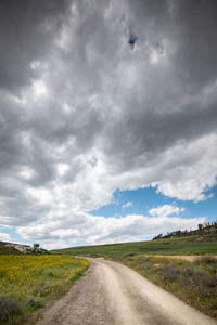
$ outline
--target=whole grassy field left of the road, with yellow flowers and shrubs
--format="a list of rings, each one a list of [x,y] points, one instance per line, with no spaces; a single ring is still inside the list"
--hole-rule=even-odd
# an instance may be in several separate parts
[[[89,263],[72,256],[0,256],[0,324],[15,324],[66,292]]]

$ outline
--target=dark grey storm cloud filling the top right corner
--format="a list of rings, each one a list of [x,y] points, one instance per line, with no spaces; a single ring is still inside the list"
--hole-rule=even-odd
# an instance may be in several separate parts
[[[193,1],[129,1],[137,17],[137,28],[152,42],[170,38],[175,47],[170,64],[188,87],[203,86],[216,78],[217,2]],[[135,21],[133,21],[135,22]],[[148,27],[148,28],[145,28]],[[149,28],[150,27],[150,28]]]

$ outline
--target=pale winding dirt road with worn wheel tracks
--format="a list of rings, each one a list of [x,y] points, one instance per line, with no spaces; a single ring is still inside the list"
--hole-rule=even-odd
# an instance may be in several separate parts
[[[214,325],[135,271],[103,259],[90,269],[37,325]]]

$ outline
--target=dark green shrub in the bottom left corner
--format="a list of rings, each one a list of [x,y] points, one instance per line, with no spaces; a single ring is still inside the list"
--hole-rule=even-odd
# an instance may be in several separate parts
[[[13,317],[21,314],[21,304],[9,297],[0,296],[0,323],[12,324]]]

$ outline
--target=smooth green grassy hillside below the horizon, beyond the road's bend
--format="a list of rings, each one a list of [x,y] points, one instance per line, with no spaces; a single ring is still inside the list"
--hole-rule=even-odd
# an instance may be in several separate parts
[[[52,253],[73,253],[82,256],[123,256],[124,253],[141,255],[217,255],[217,234],[206,235],[200,239],[196,236],[177,237],[140,243],[115,245],[98,245],[72,247],[53,250]]]

